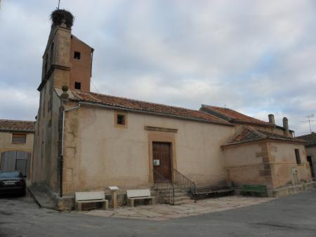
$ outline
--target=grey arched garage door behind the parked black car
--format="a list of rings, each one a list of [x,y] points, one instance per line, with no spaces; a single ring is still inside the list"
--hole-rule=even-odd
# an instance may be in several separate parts
[[[31,153],[26,151],[5,151],[1,153],[0,170],[18,170],[29,178],[29,161]]]

